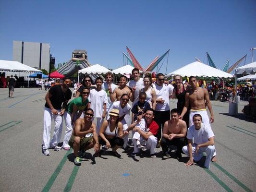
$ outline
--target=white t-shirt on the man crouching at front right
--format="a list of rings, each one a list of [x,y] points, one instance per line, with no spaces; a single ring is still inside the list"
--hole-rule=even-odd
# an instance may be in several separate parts
[[[195,125],[192,125],[188,128],[187,139],[193,139],[195,144],[204,144],[208,141],[209,138],[214,137],[210,127],[207,127],[206,124],[202,123],[199,130],[195,129]]]

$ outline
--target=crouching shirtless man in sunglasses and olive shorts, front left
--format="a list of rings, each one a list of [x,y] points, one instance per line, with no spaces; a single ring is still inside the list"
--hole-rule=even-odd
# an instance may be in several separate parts
[[[74,164],[81,165],[78,152],[85,153],[86,150],[94,147],[96,154],[99,152],[98,135],[96,133],[96,125],[91,121],[93,110],[87,108],[85,110],[85,118],[75,121],[73,134],[69,140],[69,145],[74,149]]]

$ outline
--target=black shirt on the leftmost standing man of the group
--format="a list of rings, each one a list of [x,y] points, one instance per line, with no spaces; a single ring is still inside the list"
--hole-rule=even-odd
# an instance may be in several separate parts
[[[49,89],[49,93],[51,94],[50,98],[50,102],[51,105],[53,106],[53,108],[55,109],[61,109],[61,104],[65,101],[65,100],[69,100],[71,99],[72,96],[72,92],[70,89],[68,89],[66,91],[66,93],[64,93],[61,89],[61,84],[56,84],[53,87],[51,87]],[[48,106],[47,103],[45,103],[45,107],[46,108],[50,108]]]

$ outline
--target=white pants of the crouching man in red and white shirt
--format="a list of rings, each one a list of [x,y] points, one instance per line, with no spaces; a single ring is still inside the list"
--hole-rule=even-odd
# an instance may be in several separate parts
[[[134,135],[137,135],[136,132],[134,132]],[[143,141],[144,141],[144,138],[140,137],[140,142],[143,142]],[[133,143],[134,143],[133,153],[139,153],[139,149],[137,147],[136,142],[137,142],[137,139],[133,138]],[[158,138],[157,137],[155,137],[154,135],[150,135],[148,137],[148,139],[146,140],[145,144],[146,144],[146,150],[148,150],[150,152],[150,155],[157,153],[155,151],[155,148],[157,147],[157,144],[158,144]]]

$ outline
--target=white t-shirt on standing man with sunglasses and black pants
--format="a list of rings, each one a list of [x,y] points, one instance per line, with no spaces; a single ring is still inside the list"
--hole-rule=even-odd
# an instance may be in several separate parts
[[[157,99],[162,98],[164,100],[164,103],[157,103],[156,105],[156,111],[168,111],[170,110],[169,106],[169,96],[172,95],[173,86],[171,84],[168,84],[167,86],[163,84],[162,86],[155,84],[155,90]]]

